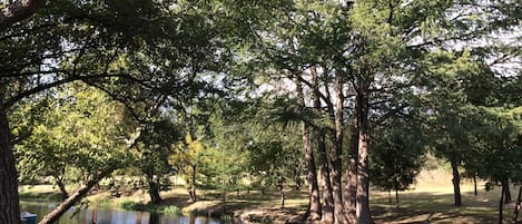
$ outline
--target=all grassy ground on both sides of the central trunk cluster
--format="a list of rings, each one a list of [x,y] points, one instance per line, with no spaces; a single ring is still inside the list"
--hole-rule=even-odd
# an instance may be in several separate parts
[[[463,206],[453,206],[452,176],[444,169],[423,172],[413,189],[400,193],[400,207],[388,203],[388,194],[372,189],[371,207],[376,223],[498,223],[500,187],[485,192],[483,182],[479,183],[479,195],[473,195],[471,182],[463,182]],[[49,185],[23,186],[21,197],[40,197],[46,199],[59,198],[56,188]],[[121,191],[121,196],[111,196],[110,192],[101,192],[89,196],[91,204],[110,208],[141,208],[149,212],[179,212],[184,214],[210,214],[220,216],[223,213],[235,216],[248,216],[249,220],[263,222],[263,218],[274,223],[284,223],[286,220],[296,220],[303,214],[308,203],[306,192],[286,191],[287,199],[285,210],[280,208],[277,192],[270,191],[266,195],[260,192],[232,192],[228,202],[220,202],[217,192],[198,192],[199,202],[187,202],[187,193],[183,187],[175,187],[162,192],[164,201],[160,206],[136,206],[148,202],[144,191]],[[512,188],[512,197],[515,198],[518,187]],[[392,195],[394,197],[394,195]],[[225,211],[224,211],[225,210]],[[513,206],[504,206],[504,220],[512,220]]]

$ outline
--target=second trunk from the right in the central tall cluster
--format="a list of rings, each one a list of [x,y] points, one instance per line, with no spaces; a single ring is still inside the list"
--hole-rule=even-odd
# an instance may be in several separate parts
[[[355,100],[357,104],[357,99]],[[355,106],[357,108],[357,105]],[[344,192],[344,208],[348,223],[357,222],[357,157],[358,157],[358,119],[354,110],[351,127],[348,150],[348,166],[346,169],[346,186]]]

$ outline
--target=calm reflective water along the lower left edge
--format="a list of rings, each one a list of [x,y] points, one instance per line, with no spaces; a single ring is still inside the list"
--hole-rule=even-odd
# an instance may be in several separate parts
[[[57,203],[47,202],[20,202],[21,211],[38,215],[37,223],[56,205]],[[218,218],[157,215],[146,212],[97,210],[93,213],[92,210],[81,210],[72,216],[73,212],[68,211],[57,224],[93,224],[95,216],[96,224],[227,224]]]

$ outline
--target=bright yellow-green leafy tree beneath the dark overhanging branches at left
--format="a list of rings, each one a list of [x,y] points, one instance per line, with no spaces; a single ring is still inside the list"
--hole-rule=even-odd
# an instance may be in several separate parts
[[[30,132],[16,147],[21,178],[52,176],[65,201],[69,197],[66,184],[88,182],[98,171],[126,164],[124,139],[130,138],[134,124],[121,104],[80,82],[66,85],[41,100],[45,106],[28,101],[27,107],[38,110],[10,116],[16,120],[39,117],[13,128],[16,136]],[[13,124],[20,124],[16,120]]]

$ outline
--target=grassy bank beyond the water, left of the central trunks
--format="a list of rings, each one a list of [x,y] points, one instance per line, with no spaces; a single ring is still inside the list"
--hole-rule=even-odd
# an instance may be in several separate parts
[[[72,191],[75,187],[71,186]],[[20,187],[21,199],[41,199],[59,202],[60,192],[51,185],[31,185]],[[221,220],[240,220],[243,223],[301,223],[306,211],[307,197],[302,191],[287,189],[285,208],[280,207],[277,192],[259,191],[229,193],[223,202],[215,191],[199,191],[198,202],[190,203],[184,187],[173,187],[161,192],[162,201],[152,205],[150,197],[142,189],[99,191],[89,195],[89,207],[121,211],[144,211],[158,214],[179,214],[210,216]]]

